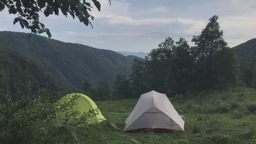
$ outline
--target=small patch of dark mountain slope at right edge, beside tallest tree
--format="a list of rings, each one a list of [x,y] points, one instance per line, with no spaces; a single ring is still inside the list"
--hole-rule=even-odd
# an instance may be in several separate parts
[[[241,60],[246,60],[249,55],[256,55],[256,38],[239,44],[238,46],[233,47],[233,49]]]

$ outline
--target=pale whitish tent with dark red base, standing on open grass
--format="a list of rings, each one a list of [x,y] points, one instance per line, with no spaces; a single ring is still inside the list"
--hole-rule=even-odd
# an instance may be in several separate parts
[[[126,119],[124,132],[185,131],[184,124],[166,94],[152,90],[140,95],[134,110]]]

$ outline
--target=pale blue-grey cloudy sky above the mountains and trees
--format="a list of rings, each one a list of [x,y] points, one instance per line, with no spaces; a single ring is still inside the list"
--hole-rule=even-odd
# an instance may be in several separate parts
[[[94,28],[70,15],[41,14],[40,20],[52,39],[114,51],[150,52],[167,37],[185,38],[193,46],[192,37],[201,33],[213,15],[218,15],[228,46],[256,37],[255,0],[111,0],[111,6],[108,0],[99,1],[100,12],[94,7],[90,13],[95,17]],[[0,12],[0,31],[30,33],[12,24],[15,17],[6,9]]]

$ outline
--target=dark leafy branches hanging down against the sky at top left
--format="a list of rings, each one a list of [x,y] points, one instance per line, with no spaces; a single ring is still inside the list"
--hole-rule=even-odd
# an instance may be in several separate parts
[[[100,2],[97,0],[92,0],[95,7],[100,11]],[[4,8],[9,10],[9,14],[17,14],[14,18],[14,24],[19,22],[22,28],[27,28],[31,30],[31,33],[46,33],[50,38],[50,30],[44,26],[43,23],[39,21],[39,12],[44,12],[44,15],[48,17],[49,15],[58,15],[59,11],[62,12],[66,17],[71,15],[73,19],[78,17],[79,21],[88,26],[89,23],[92,26],[91,20],[94,17],[89,14],[92,5],[87,1],[47,1],[47,0],[4,0],[0,1],[0,11]]]

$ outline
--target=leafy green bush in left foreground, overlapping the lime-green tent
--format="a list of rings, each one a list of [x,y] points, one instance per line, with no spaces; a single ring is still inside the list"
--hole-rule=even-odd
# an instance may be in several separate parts
[[[90,126],[87,119],[95,111],[79,116],[79,111],[72,111],[77,97],[71,98],[68,103],[59,105],[50,103],[45,90],[39,90],[30,97],[30,84],[23,70],[22,97],[14,102],[8,94],[9,87],[4,70],[1,71],[0,94],[4,103],[0,105],[0,143],[84,143],[88,140]],[[65,113],[65,114],[63,114]],[[61,115],[61,116],[60,116]]]

